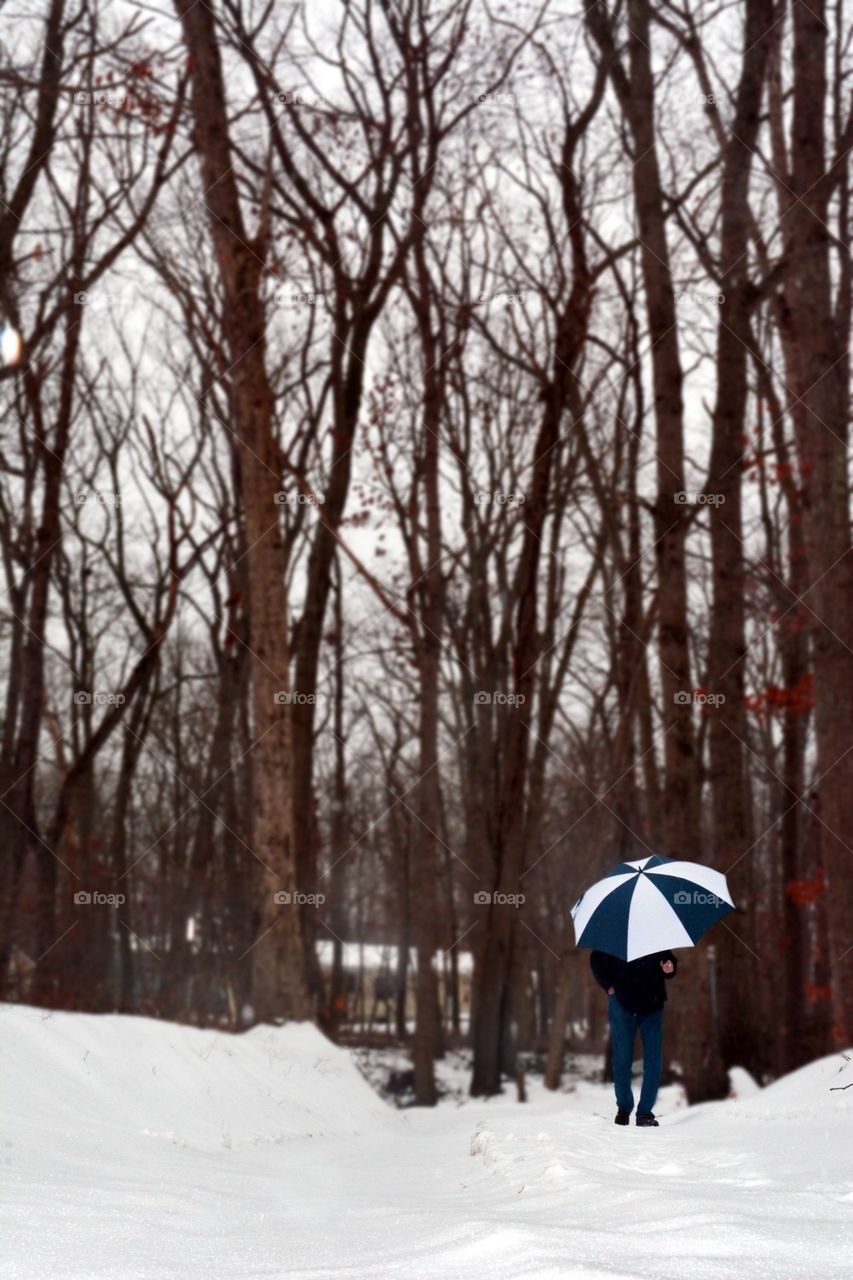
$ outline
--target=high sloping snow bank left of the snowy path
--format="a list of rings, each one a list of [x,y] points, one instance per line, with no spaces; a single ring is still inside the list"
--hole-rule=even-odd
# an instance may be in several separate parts
[[[307,1023],[242,1036],[151,1018],[0,1006],[6,1137],[164,1138],[200,1151],[357,1134],[394,1115]]]

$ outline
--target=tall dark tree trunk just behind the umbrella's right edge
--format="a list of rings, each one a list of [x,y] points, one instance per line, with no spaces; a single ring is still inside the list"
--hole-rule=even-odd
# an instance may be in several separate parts
[[[752,927],[752,808],[748,794],[745,712],[745,567],[743,550],[743,439],[747,426],[749,319],[754,289],[749,280],[749,177],[758,136],[761,100],[770,52],[771,0],[749,0],[743,29],[743,61],[735,97],[735,115],[724,152],[720,242],[720,307],[716,355],[713,443],[706,490],[715,498],[710,508],[712,590],[708,639],[708,685],[722,703],[710,717],[713,865],[727,872],[729,887],[742,910],[729,929],[720,931],[720,1036],[713,1055],[707,1096],[724,1093],[726,1066],[739,1062],[754,1074],[762,1061],[754,1009],[747,992],[757,979]],[[748,908],[748,910],[743,910]]]

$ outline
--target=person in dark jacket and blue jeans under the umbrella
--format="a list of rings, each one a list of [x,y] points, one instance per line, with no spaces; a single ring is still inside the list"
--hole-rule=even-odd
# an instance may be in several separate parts
[[[643,1088],[637,1107],[637,1124],[642,1128],[657,1128],[653,1107],[663,1065],[666,983],[678,973],[679,963],[671,951],[656,951],[638,960],[621,960],[606,951],[593,951],[589,965],[596,982],[610,996],[613,1084],[619,1108],[616,1124],[630,1124],[634,1110],[631,1062],[639,1032],[643,1041]]]

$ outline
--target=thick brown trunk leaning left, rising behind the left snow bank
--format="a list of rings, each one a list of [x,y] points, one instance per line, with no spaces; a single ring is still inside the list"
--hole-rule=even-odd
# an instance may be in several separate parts
[[[210,238],[224,300],[234,430],[241,444],[242,517],[248,562],[252,690],[251,854],[257,874],[257,938],[251,950],[259,1021],[310,1016],[293,837],[289,637],[279,513],[273,396],[261,300],[264,234],[247,233],[233,170],[227,93],[213,12],[175,0],[191,56],[192,114]],[[264,215],[261,215],[264,216]],[[248,855],[246,855],[248,856]],[[277,901],[277,895],[289,895]]]

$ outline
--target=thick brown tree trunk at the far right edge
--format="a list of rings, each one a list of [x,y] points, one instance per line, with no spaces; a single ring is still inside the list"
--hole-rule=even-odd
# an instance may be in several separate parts
[[[795,419],[803,477],[803,526],[813,611],[815,716],[821,844],[833,952],[835,1043],[853,1038],[850,920],[853,920],[853,554],[849,530],[848,366],[849,307],[836,315],[830,197],[847,180],[847,151],[827,156],[827,6],[794,3],[794,102],[790,188],[785,218],[785,302],[802,370],[803,415]]]

